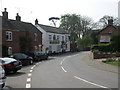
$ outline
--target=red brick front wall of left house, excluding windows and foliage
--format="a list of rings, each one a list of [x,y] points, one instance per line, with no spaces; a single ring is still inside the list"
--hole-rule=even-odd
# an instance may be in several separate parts
[[[42,45],[42,33],[38,33],[38,40],[34,40],[34,32],[24,32],[24,31],[17,31],[17,30],[2,30],[2,45],[7,47],[12,47],[12,53],[20,53],[20,37],[30,37],[32,47]],[[6,41],[6,31],[12,31],[12,41]],[[3,51],[3,56],[6,56],[6,54]]]

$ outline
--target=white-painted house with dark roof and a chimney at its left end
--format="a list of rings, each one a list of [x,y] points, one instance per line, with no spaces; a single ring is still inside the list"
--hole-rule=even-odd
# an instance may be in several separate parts
[[[42,34],[42,51],[47,53],[59,53],[70,51],[70,35],[65,30],[57,27],[38,24],[35,26]]]

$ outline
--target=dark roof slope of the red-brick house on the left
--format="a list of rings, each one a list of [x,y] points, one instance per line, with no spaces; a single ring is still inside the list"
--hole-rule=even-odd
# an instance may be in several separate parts
[[[26,32],[40,32],[32,23],[2,18],[3,30],[20,30]]]

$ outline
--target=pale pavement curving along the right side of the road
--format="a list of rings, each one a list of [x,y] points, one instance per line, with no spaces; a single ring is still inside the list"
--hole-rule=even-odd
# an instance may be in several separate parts
[[[112,73],[119,73],[120,67],[118,66],[113,66],[110,64],[105,64],[102,62],[102,60],[104,59],[93,59],[93,53],[92,52],[88,52],[88,57],[89,59],[84,59],[84,61],[88,64],[88,66],[91,66],[93,68],[97,68],[100,70],[104,70],[104,71],[108,71],[108,72],[112,72]]]

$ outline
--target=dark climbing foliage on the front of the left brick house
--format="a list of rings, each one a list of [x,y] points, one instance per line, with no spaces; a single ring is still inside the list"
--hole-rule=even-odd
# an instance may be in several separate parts
[[[32,50],[31,38],[29,37],[20,37],[20,50],[22,53],[28,53]]]

